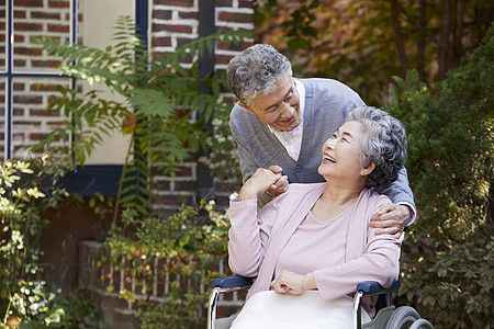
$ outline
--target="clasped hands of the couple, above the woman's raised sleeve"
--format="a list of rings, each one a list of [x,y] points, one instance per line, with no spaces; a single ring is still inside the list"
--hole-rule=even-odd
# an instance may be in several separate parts
[[[281,175],[281,171],[273,172],[270,169],[258,168],[242,186],[238,193],[238,201],[257,198],[259,194],[265,193],[269,189],[276,189],[277,182],[285,179],[285,177]]]

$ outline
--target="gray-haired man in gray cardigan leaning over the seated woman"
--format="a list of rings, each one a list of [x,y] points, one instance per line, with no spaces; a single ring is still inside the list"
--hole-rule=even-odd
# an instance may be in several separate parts
[[[364,105],[360,97],[336,80],[293,78],[288,58],[263,44],[234,57],[227,77],[238,99],[229,127],[238,146],[244,182],[257,168],[283,173],[259,196],[259,205],[285,192],[289,182],[323,182],[317,172],[321,143],[343,125],[347,113]],[[382,207],[372,217],[371,226],[397,237],[416,216],[406,169],[379,192],[393,204]]]

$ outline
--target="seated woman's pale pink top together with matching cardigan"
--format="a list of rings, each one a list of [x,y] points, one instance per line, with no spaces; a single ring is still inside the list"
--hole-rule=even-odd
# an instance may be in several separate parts
[[[355,205],[316,229],[307,216],[325,186],[290,184],[259,213],[256,200],[231,202],[228,263],[235,274],[257,276],[248,297],[270,290],[283,269],[314,272],[325,300],[353,293],[360,282],[386,287],[396,280],[401,241],[369,227],[389,197],[364,189]],[[366,306],[372,316],[373,305]]]

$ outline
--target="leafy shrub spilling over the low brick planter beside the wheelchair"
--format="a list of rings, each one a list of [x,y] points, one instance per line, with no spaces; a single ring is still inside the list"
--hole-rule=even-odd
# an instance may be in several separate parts
[[[116,271],[135,277],[135,293],[119,293],[130,304],[135,303],[139,328],[191,328],[203,324],[209,296],[204,287],[220,275],[215,265],[226,258],[226,214],[215,211],[214,202],[203,201],[199,208],[182,206],[169,218],[159,214],[141,218],[137,212],[126,209],[122,219],[122,226],[110,230],[104,249],[111,250],[110,260]],[[103,262],[104,254],[108,252],[103,253]],[[169,290],[155,296],[155,277],[167,275]],[[157,303],[153,297],[166,302]]]

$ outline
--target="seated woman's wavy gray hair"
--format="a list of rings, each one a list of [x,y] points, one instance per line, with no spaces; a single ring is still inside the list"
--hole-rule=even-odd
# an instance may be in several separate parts
[[[372,106],[359,106],[348,113],[346,122],[362,125],[362,150],[360,163],[375,163],[369,174],[367,188],[381,190],[396,180],[406,160],[406,131],[402,123],[389,113]]]

